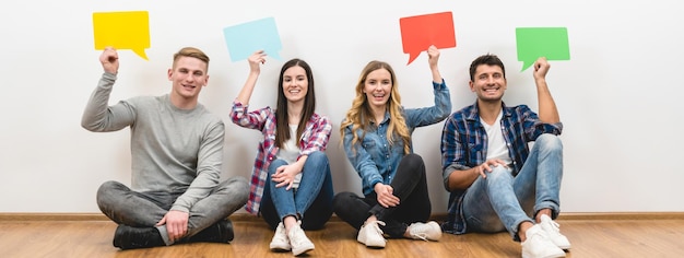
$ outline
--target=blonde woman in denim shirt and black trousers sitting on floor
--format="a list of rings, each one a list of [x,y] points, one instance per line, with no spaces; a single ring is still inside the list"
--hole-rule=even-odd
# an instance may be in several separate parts
[[[346,157],[362,179],[364,197],[340,192],[333,210],[354,228],[366,247],[385,248],[390,237],[438,241],[439,225],[427,222],[432,212],[423,159],[413,153],[411,133],[437,124],[451,112],[449,89],[437,61],[439,50],[427,50],[435,105],[403,108],[392,68],[370,61],[356,84],[356,97],[340,128]]]

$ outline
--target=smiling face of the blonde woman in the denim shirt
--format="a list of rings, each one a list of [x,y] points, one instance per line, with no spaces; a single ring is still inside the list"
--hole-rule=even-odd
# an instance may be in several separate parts
[[[392,91],[392,74],[385,68],[369,72],[363,91],[370,108],[385,110]]]

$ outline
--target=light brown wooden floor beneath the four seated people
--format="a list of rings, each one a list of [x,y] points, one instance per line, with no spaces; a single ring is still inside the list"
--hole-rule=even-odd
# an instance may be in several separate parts
[[[571,242],[567,257],[684,257],[684,220],[620,219],[558,220]],[[271,253],[273,236],[259,219],[234,219],[231,244],[196,243],[148,249],[119,250],[111,246],[116,224],[105,220],[0,220],[0,257],[291,257]],[[520,257],[520,244],[507,233],[444,234],[439,242],[390,239],[385,249],[356,242],[356,232],[339,220],[325,230],[307,232],[317,257]]]

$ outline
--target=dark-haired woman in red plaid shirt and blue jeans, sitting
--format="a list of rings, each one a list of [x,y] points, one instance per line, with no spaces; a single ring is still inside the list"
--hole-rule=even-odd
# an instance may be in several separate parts
[[[260,50],[249,57],[249,77],[233,103],[231,118],[263,133],[246,209],[261,213],[275,228],[272,250],[292,250],[297,256],[314,249],[303,228],[321,228],[332,215],[332,179],[323,152],[332,125],[315,113],[314,77],[300,59],[292,59],[281,69],[276,109],[248,110],[266,56]]]

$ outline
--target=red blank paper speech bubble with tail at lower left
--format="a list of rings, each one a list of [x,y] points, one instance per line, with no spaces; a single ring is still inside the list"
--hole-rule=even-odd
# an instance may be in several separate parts
[[[451,12],[441,12],[399,19],[401,43],[409,63],[431,45],[437,48],[456,47],[456,32]]]

